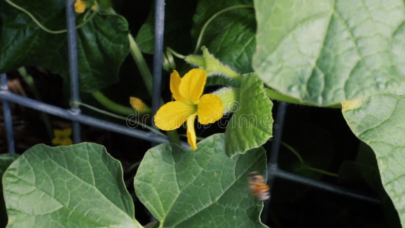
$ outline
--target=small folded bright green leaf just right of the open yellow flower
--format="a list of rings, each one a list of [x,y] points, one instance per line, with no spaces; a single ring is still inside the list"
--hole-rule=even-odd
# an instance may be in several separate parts
[[[249,96],[247,96],[249,95]],[[225,130],[225,152],[231,157],[263,145],[272,136],[273,103],[255,73],[244,75],[240,86],[239,107]],[[235,109],[234,109],[235,110]]]

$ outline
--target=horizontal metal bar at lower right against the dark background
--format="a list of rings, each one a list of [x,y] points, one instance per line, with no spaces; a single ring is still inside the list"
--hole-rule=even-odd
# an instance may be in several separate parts
[[[278,177],[281,179],[291,180],[291,181],[294,181],[297,183],[302,183],[302,184],[306,184],[306,185],[309,185],[312,187],[316,187],[316,188],[319,188],[319,189],[322,189],[322,190],[325,190],[328,192],[352,197],[352,198],[363,200],[363,201],[368,201],[368,202],[375,203],[375,204],[381,203],[380,199],[378,199],[376,197],[372,197],[372,196],[363,195],[357,191],[354,191],[353,189],[337,186],[337,185],[330,184],[330,183],[325,183],[325,182],[322,182],[319,180],[314,180],[314,179],[300,176],[300,175],[297,175],[294,173],[290,173],[290,172],[287,172],[287,171],[284,171],[281,169],[273,169],[273,170],[271,170],[271,172],[275,177]]]

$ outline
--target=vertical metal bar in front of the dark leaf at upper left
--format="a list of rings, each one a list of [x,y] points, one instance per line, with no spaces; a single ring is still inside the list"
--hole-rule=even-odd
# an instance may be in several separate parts
[[[69,75],[70,75],[70,99],[72,102],[80,101],[79,96],[79,77],[78,77],[78,61],[77,61],[77,32],[76,32],[76,14],[74,12],[74,0],[66,0],[66,25],[67,25],[67,48],[69,56]],[[78,105],[71,106],[71,112],[74,114],[80,113]],[[80,139],[80,124],[72,122],[73,142],[79,143]]]

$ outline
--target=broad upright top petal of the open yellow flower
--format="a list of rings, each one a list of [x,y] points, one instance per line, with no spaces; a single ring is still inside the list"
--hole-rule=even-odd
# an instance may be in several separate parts
[[[179,92],[181,96],[194,104],[198,103],[206,85],[207,74],[202,69],[192,69],[181,78]]]

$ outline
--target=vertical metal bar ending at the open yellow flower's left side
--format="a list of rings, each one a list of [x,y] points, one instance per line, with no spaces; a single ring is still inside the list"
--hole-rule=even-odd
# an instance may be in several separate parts
[[[155,1],[155,33],[153,53],[152,115],[161,105],[161,72],[163,63],[163,33],[165,30],[165,0]]]

